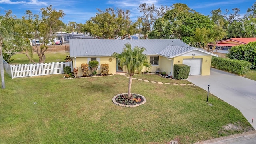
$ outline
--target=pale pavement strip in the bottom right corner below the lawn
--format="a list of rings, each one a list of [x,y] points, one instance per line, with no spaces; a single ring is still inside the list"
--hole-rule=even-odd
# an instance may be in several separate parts
[[[215,138],[212,140],[206,140],[203,142],[197,142],[195,144],[256,144],[256,130],[250,132],[244,132],[242,134],[234,134],[231,136],[225,136],[221,138]]]

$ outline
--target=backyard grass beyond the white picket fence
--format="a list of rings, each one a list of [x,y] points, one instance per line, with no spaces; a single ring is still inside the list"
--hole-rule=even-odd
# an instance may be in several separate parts
[[[69,56],[69,52],[45,52],[45,62],[64,62],[66,56]],[[11,59],[14,59],[11,64],[29,64],[28,57],[25,54],[17,53],[12,56]],[[35,62],[39,61],[37,53],[34,52],[33,58]]]

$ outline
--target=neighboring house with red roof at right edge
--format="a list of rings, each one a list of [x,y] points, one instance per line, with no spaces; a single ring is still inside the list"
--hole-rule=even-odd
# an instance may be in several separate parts
[[[228,50],[233,46],[248,44],[249,42],[255,42],[256,38],[230,38],[227,40],[221,40],[217,42],[214,52],[228,53]],[[212,49],[214,44],[209,43],[209,48]]]

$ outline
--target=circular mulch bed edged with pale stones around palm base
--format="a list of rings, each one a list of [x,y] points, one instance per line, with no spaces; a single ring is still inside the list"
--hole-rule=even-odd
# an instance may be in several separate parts
[[[140,94],[132,94],[132,98],[126,98],[128,93],[118,94],[112,98],[114,104],[123,107],[136,107],[144,104],[147,100]]]

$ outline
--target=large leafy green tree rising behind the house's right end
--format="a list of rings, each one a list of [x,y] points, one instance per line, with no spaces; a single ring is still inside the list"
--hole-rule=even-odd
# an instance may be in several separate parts
[[[173,4],[172,9],[156,20],[150,38],[178,38],[187,44],[191,43],[196,28],[211,29],[214,23],[209,16],[204,16],[186,4]]]

